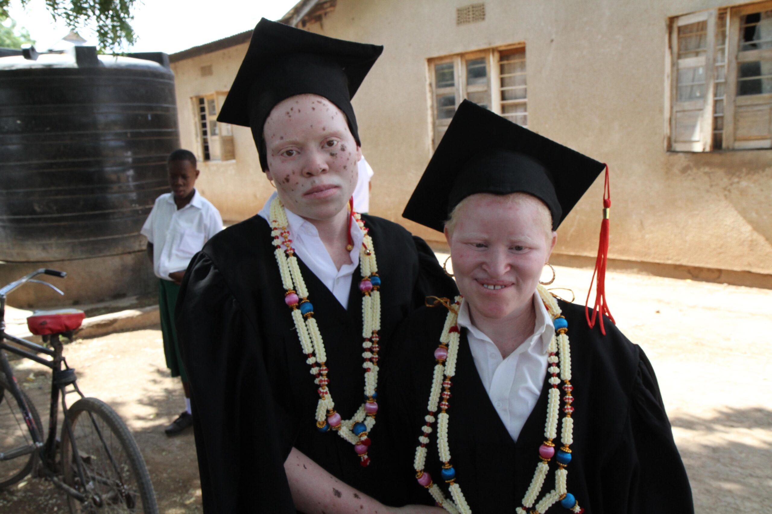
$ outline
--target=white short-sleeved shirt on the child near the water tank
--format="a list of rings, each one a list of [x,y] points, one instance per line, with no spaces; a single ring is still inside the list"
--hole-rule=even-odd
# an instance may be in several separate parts
[[[188,269],[191,257],[220,230],[219,211],[194,190],[190,203],[181,209],[172,193],[157,197],[140,233],[153,244],[155,276],[171,281],[169,274]]]

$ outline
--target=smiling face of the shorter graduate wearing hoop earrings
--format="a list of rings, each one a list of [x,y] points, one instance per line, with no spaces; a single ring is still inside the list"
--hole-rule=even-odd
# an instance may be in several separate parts
[[[544,264],[557,240],[544,233],[540,200],[513,203],[475,194],[461,206],[458,223],[445,237],[459,291],[472,319],[517,316],[530,305]]]

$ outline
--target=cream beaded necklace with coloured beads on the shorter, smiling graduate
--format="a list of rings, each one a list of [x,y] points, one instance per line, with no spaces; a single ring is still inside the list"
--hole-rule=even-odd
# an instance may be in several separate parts
[[[549,367],[547,372],[550,374],[550,390],[547,391],[547,422],[544,425],[544,442],[539,447],[539,459],[536,472],[528,486],[525,496],[523,496],[522,506],[515,509],[516,514],[542,514],[546,512],[555,502],[560,502],[561,506],[571,510],[575,514],[584,512],[579,506],[579,502],[570,492],[567,492],[567,469],[566,466],[571,462],[570,445],[574,442],[574,420],[571,414],[574,408],[571,402],[574,401],[571,391],[571,349],[568,345],[568,322],[565,317],[560,315],[560,307],[557,305],[554,297],[541,285],[537,286],[537,293],[547,311],[552,317],[555,334],[550,340],[549,356],[547,363]],[[461,486],[455,481],[455,469],[451,465],[450,446],[448,443],[448,428],[450,408],[450,387],[451,379],[455,375],[455,364],[459,356],[460,332],[457,324],[459,317],[459,308],[461,307],[462,297],[455,297],[455,303],[448,309],[448,316],[445,317],[445,326],[442,328],[442,334],[439,338],[439,346],[435,350],[434,378],[432,378],[432,390],[429,393],[428,415],[425,417],[426,424],[422,426],[422,435],[418,438],[421,443],[415,448],[415,477],[418,483],[428,489],[429,494],[435,499],[438,505],[442,506],[451,514],[471,514],[472,509],[466,502],[461,491]],[[563,361],[562,368],[560,361]],[[560,377],[558,377],[560,375]],[[564,382],[563,390],[565,395],[564,417],[560,431],[560,442],[563,444],[560,449],[555,450],[553,440],[557,437],[557,425],[560,415],[560,381]],[[442,391],[441,391],[442,390]],[[442,400],[440,399],[442,398]],[[435,414],[439,409],[439,414]],[[449,484],[452,500],[445,497],[439,485],[432,482],[432,476],[424,471],[426,464],[426,445],[429,443],[428,435],[432,433],[432,424],[437,421],[437,448],[439,459],[442,462],[442,479]],[[545,494],[537,503],[544,480],[550,471],[550,460],[555,458],[557,470],[555,470],[555,489]],[[534,507],[533,504],[536,503]],[[533,508],[533,509],[532,509]]]

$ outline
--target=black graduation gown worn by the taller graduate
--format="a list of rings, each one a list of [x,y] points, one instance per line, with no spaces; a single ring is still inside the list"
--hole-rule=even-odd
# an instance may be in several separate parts
[[[423,240],[396,223],[363,219],[378,258],[385,348],[427,291],[452,295],[455,284]],[[283,469],[293,446],[338,479],[389,502],[391,454],[381,430],[386,409],[378,412],[371,465],[364,469],[350,443],[316,427],[317,385],[284,303],[270,231],[255,216],[212,237],[191,260],[179,294],[176,321],[205,512],[296,512]],[[361,274],[354,272],[346,310],[302,261],[300,269],[327,348],[336,410],[349,418],[364,401]]]

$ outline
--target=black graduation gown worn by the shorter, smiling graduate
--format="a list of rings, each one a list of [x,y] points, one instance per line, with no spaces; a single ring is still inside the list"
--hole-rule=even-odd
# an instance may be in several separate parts
[[[686,470],[673,442],[654,370],[642,349],[608,319],[603,336],[597,327],[587,327],[583,306],[559,303],[568,321],[576,398],[568,492],[587,514],[694,512]],[[381,390],[389,403],[388,428],[400,447],[408,448],[401,457],[400,472],[409,489],[403,502],[432,504],[431,496],[415,480],[413,457],[425,424],[433,352],[446,314],[444,307],[415,311],[386,355],[390,366]],[[515,443],[482,385],[466,331],[462,331],[452,382],[449,445],[456,482],[473,512],[514,512],[522,505],[540,460],[550,385],[545,378],[537,404]],[[436,423],[430,438],[425,471],[449,496],[440,479]],[[560,442],[560,425],[556,442]],[[553,459],[539,498],[554,489],[555,469]],[[569,511],[558,502],[547,512]]]

